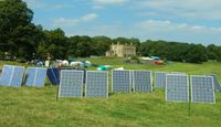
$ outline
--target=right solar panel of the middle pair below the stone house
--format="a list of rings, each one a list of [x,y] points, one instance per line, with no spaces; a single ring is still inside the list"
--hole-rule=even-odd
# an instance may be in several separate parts
[[[131,71],[131,75],[133,75],[133,77],[131,77],[131,81],[133,81],[133,88],[134,88],[134,92],[152,92],[152,73],[151,73],[151,71],[141,71],[141,70],[136,70],[136,71]],[[143,73],[143,77],[140,77],[140,78],[145,78],[144,77],[144,73],[146,73],[147,75],[147,77],[149,77],[149,78],[145,78],[146,80],[146,85],[144,85],[143,83],[145,82],[145,81],[140,81],[140,80],[136,80],[137,78],[137,75],[136,75],[136,73],[138,74],[138,73]],[[143,85],[139,85],[139,84],[143,84]],[[149,86],[148,86],[149,85]],[[141,87],[141,88],[140,88]],[[150,89],[149,89],[150,88]]]

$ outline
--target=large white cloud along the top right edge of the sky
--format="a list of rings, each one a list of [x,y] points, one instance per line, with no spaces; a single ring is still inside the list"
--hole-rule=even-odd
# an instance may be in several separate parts
[[[146,0],[138,8],[151,8],[162,14],[182,18],[221,20],[221,0]]]

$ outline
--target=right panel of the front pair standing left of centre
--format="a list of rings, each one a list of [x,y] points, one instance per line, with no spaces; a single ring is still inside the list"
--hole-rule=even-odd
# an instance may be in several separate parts
[[[108,97],[108,72],[87,71],[85,97]]]

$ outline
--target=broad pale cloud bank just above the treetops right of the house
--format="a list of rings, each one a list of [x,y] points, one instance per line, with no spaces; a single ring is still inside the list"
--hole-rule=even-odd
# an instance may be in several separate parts
[[[189,25],[171,21],[147,20],[136,24],[137,34],[154,40],[218,43],[221,42],[221,28]],[[217,39],[217,42],[211,42]]]

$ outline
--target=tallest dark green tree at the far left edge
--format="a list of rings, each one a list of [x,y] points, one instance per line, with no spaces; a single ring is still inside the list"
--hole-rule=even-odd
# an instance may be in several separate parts
[[[39,28],[31,23],[32,17],[32,10],[22,0],[0,1],[0,51],[17,57],[31,57],[35,46],[34,33],[39,32]]]

